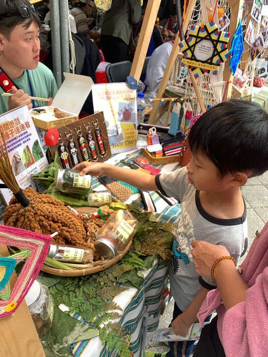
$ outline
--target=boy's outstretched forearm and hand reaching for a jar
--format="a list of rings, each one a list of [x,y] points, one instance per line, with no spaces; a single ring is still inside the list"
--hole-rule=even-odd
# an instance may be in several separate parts
[[[85,175],[86,173],[93,176],[106,175],[113,179],[124,181],[127,184],[142,190],[158,190],[155,183],[155,176],[139,170],[125,169],[123,167],[98,162],[81,162],[74,167],[74,170],[81,171],[80,175]]]

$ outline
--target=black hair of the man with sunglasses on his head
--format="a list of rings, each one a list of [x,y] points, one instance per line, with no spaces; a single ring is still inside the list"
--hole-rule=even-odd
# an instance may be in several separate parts
[[[21,17],[19,13],[14,16],[5,17],[7,14],[15,13],[19,6],[29,7],[31,3],[28,0],[0,0],[0,33],[5,35],[7,39],[9,39],[16,25],[22,24],[23,27],[28,29],[32,22],[36,22],[38,27],[41,27],[39,16],[32,11],[30,11],[30,16],[27,18]]]

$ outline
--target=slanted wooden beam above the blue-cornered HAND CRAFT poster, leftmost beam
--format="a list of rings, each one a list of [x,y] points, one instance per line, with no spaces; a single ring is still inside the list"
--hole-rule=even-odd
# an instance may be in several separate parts
[[[140,79],[160,3],[161,0],[149,0],[145,10],[139,33],[139,40],[130,70],[130,75],[132,75],[137,81]]]

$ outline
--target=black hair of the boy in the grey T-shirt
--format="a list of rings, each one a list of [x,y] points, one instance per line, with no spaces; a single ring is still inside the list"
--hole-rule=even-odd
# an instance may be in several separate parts
[[[204,113],[192,126],[189,147],[217,167],[221,177],[228,173],[268,169],[268,114],[256,103],[233,99]]]

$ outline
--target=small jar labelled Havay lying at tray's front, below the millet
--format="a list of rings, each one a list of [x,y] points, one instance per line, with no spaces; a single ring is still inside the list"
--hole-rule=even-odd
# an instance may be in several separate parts
[[[62,262],[86,263],[92,261],[92,250],[88,251],[71,245],[51,244],[48,257]]]

